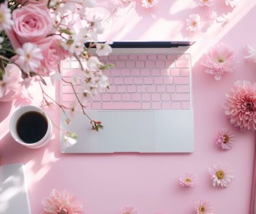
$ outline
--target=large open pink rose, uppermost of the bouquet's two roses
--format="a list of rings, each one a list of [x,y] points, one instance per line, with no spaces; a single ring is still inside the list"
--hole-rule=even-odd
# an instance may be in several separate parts
[[[14,49],[25,42],[42,40],[52,29],[51,18],[45,4],[29,4],[14,10],[14,26],[6,32]]]

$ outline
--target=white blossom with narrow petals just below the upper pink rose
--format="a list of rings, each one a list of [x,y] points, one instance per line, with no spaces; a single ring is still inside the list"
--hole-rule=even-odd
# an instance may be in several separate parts
[[[18,54],[16,64],[27,73],[36,71],[41,65],[41,60],[44,58],[41,49],[30,42],[24,43],[22,48],[19,47],[16,50],[16,53]]]

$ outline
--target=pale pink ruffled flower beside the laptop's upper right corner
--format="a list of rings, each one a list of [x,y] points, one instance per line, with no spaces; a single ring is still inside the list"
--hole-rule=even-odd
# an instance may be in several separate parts
[[[215,80],[220,80],[225,72],[233,72],[237,56],[227,45],[219,43],[203,55],[201,64],[208,67],[206,73],[214,75]]]

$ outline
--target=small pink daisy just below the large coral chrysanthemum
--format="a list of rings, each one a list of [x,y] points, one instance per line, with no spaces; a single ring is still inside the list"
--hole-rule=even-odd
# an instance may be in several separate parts
[[[231,149],[235,144],[235,136],[228,128],[223,128],[219,131],[216,138],[216,144],[223,150]]]

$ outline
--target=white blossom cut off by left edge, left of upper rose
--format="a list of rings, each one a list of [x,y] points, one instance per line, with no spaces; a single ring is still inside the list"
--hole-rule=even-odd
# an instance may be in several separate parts
[[[5,3],[0,4],[0,31],[9,30],[13,23],[11,11],[7,1],[5,1]]]

